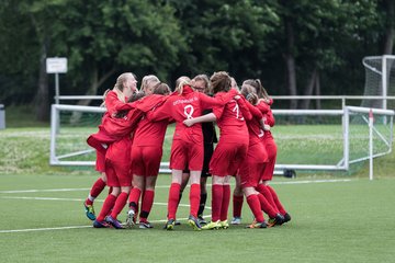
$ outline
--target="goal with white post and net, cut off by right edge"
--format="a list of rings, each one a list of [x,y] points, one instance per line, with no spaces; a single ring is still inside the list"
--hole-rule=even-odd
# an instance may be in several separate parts
[[[394,96],[395,95],[395,56],[364,57],[362,64],[365,68],[365,83],[363,95]],[[395,100],[364,99],[362,107],[395,108]]]

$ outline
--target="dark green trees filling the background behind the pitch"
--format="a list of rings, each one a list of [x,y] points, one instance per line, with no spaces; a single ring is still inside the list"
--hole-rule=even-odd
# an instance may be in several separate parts
[[[171,87],[218,70],[271,94],[360,94],[361,59],[393,52],[393,14],[391,0],[3,0],[0,102],[47,111],[55,56],[61,94],[100,94],[124,71]]]

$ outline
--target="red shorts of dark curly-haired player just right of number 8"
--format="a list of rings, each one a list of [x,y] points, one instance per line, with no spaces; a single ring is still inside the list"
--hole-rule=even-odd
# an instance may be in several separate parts
[[[248,150],[247,142],[224,142],[219,139],[210,162],[210,173],[217,176],[235,175]]]

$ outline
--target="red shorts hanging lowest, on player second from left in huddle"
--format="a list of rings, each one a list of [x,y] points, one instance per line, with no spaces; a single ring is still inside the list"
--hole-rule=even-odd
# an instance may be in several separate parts
[[[105,160],[105,175],[109,186],[132,186],[132,173],[129,162],[114,162]]]

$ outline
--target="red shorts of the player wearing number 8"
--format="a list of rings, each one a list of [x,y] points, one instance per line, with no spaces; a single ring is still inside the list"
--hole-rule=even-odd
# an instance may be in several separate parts
[[[202,171],[203,168],[203,142],[184,141],[176,139],[171,145],[170,169]]]

